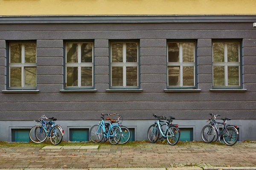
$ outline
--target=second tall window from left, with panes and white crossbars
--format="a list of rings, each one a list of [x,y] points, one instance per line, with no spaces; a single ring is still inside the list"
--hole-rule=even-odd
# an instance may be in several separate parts
[[[66,42],[65,88],[93,88],[93,42]]]

